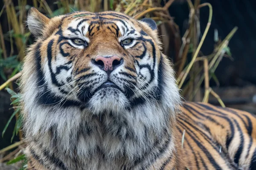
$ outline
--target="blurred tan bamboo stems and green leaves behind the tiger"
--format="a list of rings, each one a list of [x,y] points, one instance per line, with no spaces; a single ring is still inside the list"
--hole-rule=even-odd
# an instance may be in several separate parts
[[[174,63],[177,73],[177,84],[183,89],[181,94],[190,101],[208,102],[209,95],[215,96],[220,104],[224,103],[212,89],[209,87],[209,80],[212,78],[218,85],[218,79],[214,72],[223,57],[231,57],[228,42],[230,41],[237,28],[234,28],[224,40],[218,37],[218,31],[215,30],[214,51],[212,54],[204,55],[200,49],[207,36],[207,32],[212,20],[212,7],[209,3],[201,4],[200,0],[186,0],[190,9],[189,26],[184,35],[180,35],[178,26],[170,16],[168,8],[175,0],[3,0],[4,5],[0,10],[1,22],[3,16],[7,17],[5,23],[0,22],[0,90],[6,89],[11,94],[12,108],[14,113],[3,129],[2,136],[6,133],[10,121],[15,117],[16,124],[13,130],[13,136],[18,135],[20,142],[14,143],[9,147],[0,150],[3,158],[0,162],[13,164],[17,161],[23,161],[22,168],[26,169],[26,160],[23,156],[24,142],[20,127],[22,117],[20,116],[20,94],[16,88],[18,82],[15,82],[21,76],[22,61],[25,57],[26,48],[33,43],[34,37],[26,27],[25,20],[27,11],[34,6],[48,17],[60,14],[66,14],[72,11],[119,11],[135,19],[150,17],[156,21],[159,28],[159,35],[163,41],[163,53],[166,54]],[[176,0],[179,1],[179,0]],[[161,5],[162,4],[162,5]],[[209,8],[209,20],[206,28],[200,28],[200,8]],[[3,32],[3,28],[5,31]],[[204,31],[201,31],[204,30]],[[202,32],[202,36],[201,35]],[[181,37],[182,36],[182,37]],[[204,85],[202,85],[204,82]],[[204,87],[204,94],[201,94],[201,87]],[[11,141],[12,141],[11,139]],[[15,149],[16,148],[16,149]],[[10,150],[12,150],[10,152]]]

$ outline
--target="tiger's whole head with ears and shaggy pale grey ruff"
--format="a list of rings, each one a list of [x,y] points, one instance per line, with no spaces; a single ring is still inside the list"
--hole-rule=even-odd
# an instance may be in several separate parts
[[[100,147],[134,160],[171,134],[180,95],[153,20],[31,8],[27,24],[36,37],[21,78],[28,141],[60,156],[95,157]]]

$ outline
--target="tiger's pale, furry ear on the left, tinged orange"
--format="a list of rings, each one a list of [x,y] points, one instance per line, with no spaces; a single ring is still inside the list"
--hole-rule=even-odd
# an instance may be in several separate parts
[[[29,9],[27,24],[29,31],[35,37],[39,37],[43,34],[43,30],[49,21],[50,19],[39,12],[36,8],[32,7]]]

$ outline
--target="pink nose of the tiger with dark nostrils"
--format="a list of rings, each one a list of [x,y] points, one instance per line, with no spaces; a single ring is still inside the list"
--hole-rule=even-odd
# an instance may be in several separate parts
[[[98,56],[95,60],[93,60],[93,63],[102,70],[113,71],[119,65],[122,65],[123,59],[116,55],[111,57]]]

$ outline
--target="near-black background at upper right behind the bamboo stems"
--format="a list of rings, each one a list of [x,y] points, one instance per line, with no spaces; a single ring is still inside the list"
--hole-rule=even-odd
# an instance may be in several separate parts
[[[233,61],[224,58],[217,70],[216,76],[221,86],[245,86],[256,84],[256,1],[255,0],[201,0],[212,5],[212,23],[201,51],[211,54],[214,44],[214,29],[218,30],[222,40],[230,31],[238,26],[238,31],[230,40],[229,47]],[[189,16],[186,3],[173,3],[169,8],[175,23],[183,35]],[[201,34],[204,33],[208,21],[209,9],[200,10]],[[214,83],[211,83],[214,86]]]

